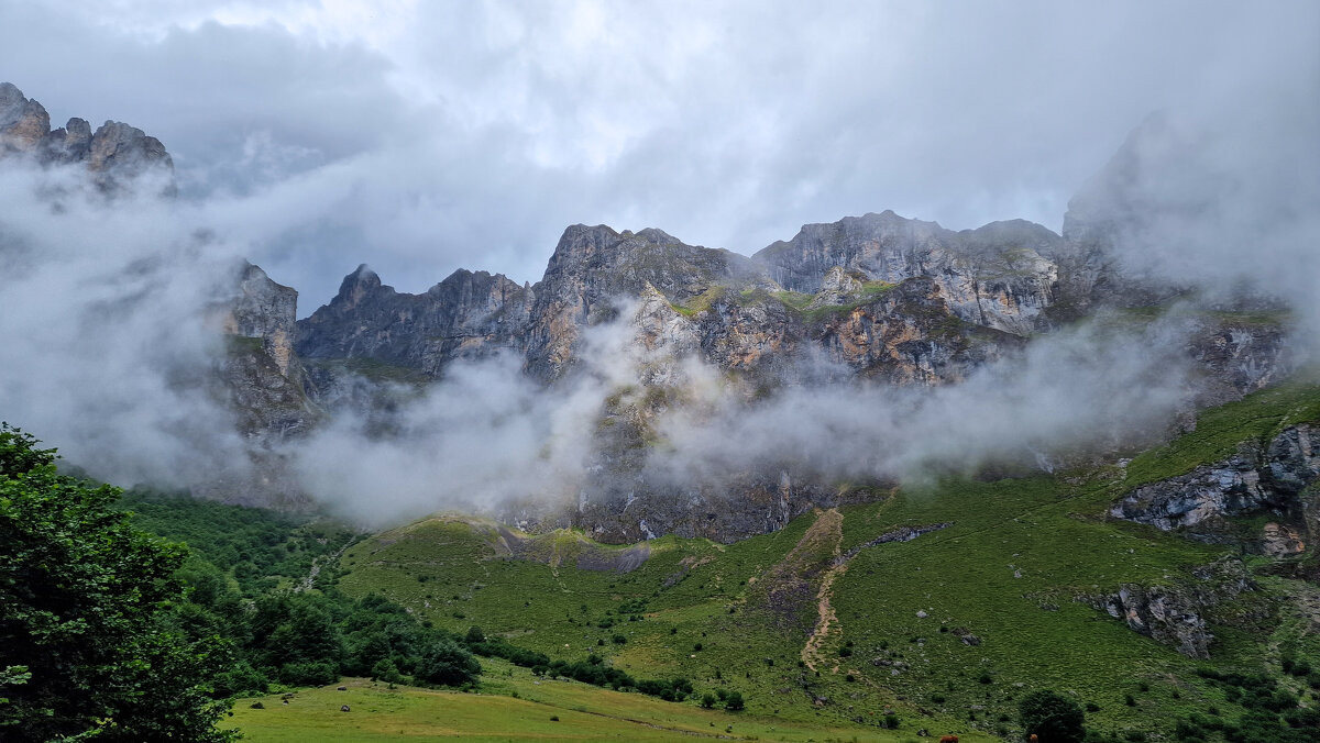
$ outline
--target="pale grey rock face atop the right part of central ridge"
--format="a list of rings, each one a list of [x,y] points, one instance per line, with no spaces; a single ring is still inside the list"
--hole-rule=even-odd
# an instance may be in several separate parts
[[[871,281],[929,277],[965,322],[1030,333],[1053,301],[1057,268],[1043,257],[1060,239],[1030,222],[995,222],[953,232],[892,211],[807,224],[787,243],[754,257],[792,292],[816,294],[837,267]]]

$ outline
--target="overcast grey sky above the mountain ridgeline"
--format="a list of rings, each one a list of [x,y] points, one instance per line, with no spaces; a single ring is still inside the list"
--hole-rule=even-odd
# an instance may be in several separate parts
[[[536,281],[579,222],[743,253],[884,209],[1059,230],[1151,111],[1313,108],[1317,67],[1313,0],[0,3],[0,79],[160,137],[300,315],[363,261]]]

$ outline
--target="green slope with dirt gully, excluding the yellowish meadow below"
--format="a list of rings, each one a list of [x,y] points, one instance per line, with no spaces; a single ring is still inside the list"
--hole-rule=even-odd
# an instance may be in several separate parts
[[[1237,707],[1193,674],[1196,661],[1073,598],[1123,582],[1187,579],[1192,566],[1226,548],[1114,523],[1104,513],[1135,484],[1183,474],[1243,439],[1303,420],[1320,420],[1320,392],[1280,387],[1205,413],[1195,433],[1122,471],[909,488],[845,508],[841,519],[809,513],[780,532],[727,546],[664,537],[649,542],[651,558],[628,574],[577,569],[574,556],[587,544],[581,534],[535,537],[532,552],[544,562],[532,562],[508,558],[487,524],[434,517],[350,548],[341,586],[358,595],[381,593],[450,630],[478,624],[553,657],[598,652],[636,677],[686,676],[698,697],[737,689],[748,698],[747,718],[834,726],[847,731],[843,738],[880,735],[876,723],[890,709],[907,739],[923,727],[1011,734],[1014,723],[1003,718],[1014,715],[1016,698],[1032,688],[1098,705],[1088,722],[1101,730],[1160,730],[1176,715]],[[954,524],[913,541],[863,548],[846,570],[832,570],[834,554],[896,527],[942,521]],[[793,575],[807,579],[795,583]],[[1243,600],[1276,603],[1309,590],[1279,578],[1261,582],[1266,591]],[[812,670],[799,660],[822,583],[829,585],[825,608],[836,620],[810,656]],[[647,604],[640,622],[618,614],[620,603],[634,599]],[[1254,630],[1214,631],[1218,665],[1269,668],[1280,643],[1303,655],[1320,651],[1307,623],[1288,611]],[[964,643],[969,632],[981,644]],[[626,643],[616,644],[615,635]],[[851,657],[840,657],[845,643],[851,643]],[[513,678],[519,674],[525,672]],[[676,705],[556,684],[579,688],[581,705],[591,711],[610,714],[616,699],[627,698],[678,710],[672,714],[708,714],[694,701]],[[1125,703],[1127,694],[1135,706]],[[524,694],[524,702],[529,698]],[[491,719],[504,719],[502,714],[492,711]],[[503,730],[533,735],[520,725]]]

